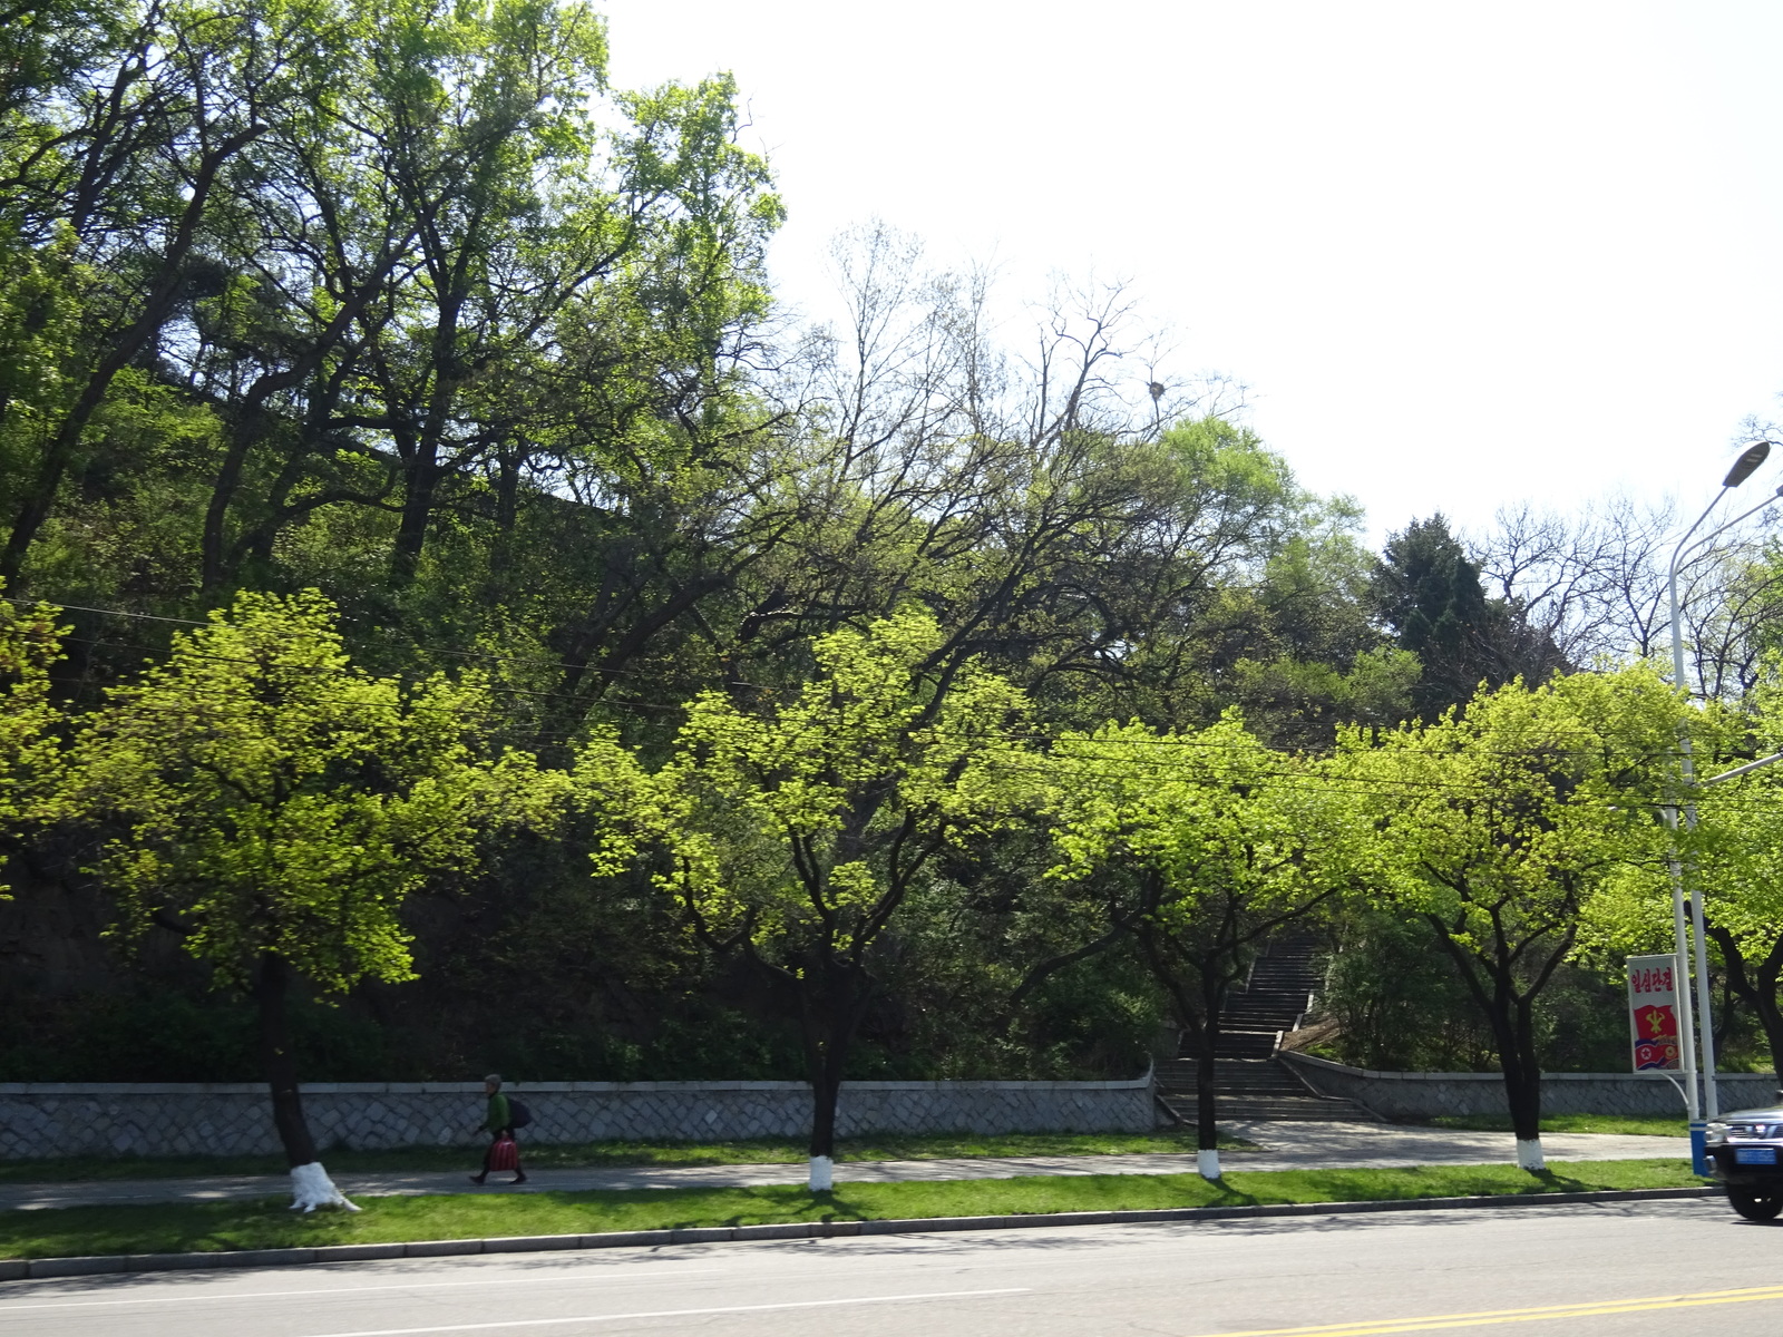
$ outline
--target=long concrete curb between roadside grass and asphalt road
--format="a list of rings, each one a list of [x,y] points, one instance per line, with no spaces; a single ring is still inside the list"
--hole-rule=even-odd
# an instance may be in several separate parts
[[[118,1253],[89,1259],[0,1260],[0,1282],[114,1273],[209,1271],[216,1267],[292,1267],[312,1262],[374,1259],[448,1259],[467,1253],[551,1253],[558,1250],[660,1248],[665,1244],[731,1244],[749,1239],[850,1239],[856,1235],[920,1235],[941,1230],[1034,1230],[1043,1226],[1129,1225],[1145,1221],[1230,1221],[1271,1216],[1339,1216],[1348,1212],[1430,1212],[1457,1207],[1549,1207],[1653,1198],[1719,1198],[1719,1187],[1599,1189],[1592,1193],[1505,1193],[1475,1198],[1393,1198],[1387,1202],[1309,1202],[1264,1207],[1163,1207],[1148,1212],[1045,1212],[1032,1216],[916,1216],[884,1221],[797,1221],[761,1226],[688,1230],[610,1230],[596,1235],[505,1235],[497,1239],[428,1239],[414,1244],[325,1244],[296,1250],[232,1253]]]

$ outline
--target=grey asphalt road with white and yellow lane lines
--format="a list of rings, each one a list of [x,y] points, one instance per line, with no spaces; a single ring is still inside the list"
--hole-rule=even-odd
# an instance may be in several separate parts
[[[1721,1202],[431,1259],[14,1282],[32,1337],[1776,1337],[1783,1226]]]

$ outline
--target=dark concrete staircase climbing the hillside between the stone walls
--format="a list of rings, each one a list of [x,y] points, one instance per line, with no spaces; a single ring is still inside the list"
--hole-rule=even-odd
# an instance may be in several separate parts
[[[1250,984],[1234,989],[1220,1014],[1214,1046],[1214,1098],[1220,1121],[1316,1120],[1378,1123],[1360,1105],[1314,1095],[1294,1071],[1275,1059],[1275,1041],[1293,1030],[1319,984],[1312,957],[1318,941],[1284,938],[1257,957]],[[1157,1064],[1157,1095],[1184,1121],[1195,1121],[1195,1059]]]

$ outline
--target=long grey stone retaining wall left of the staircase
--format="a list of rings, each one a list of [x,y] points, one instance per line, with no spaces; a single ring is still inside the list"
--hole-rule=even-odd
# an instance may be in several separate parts
[[[806,1137],[804,1082],[512,1082],[531,1143]],[[478,1144],[480,1082],[317,1082],[303,1112],[321,1148]],[[836,1132],[1145,1132],[1152,1075],[1132,1082],[843,1082]],[[0,1159],[264,1155],[278,1150],[266,1087],[0,1084]]]

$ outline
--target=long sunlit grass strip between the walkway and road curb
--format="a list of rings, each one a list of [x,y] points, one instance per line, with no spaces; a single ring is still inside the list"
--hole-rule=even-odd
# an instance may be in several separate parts
[[[0,1212],[0,1259],[91,1253],[380,1244],[415,1239],[594,1234],[669,1226],[861,1221],[874,1218],[1143,1210],[1241,1203],[1450,1198],[1582,1189],[1694,1185],[1689,1161],[1555,1162],[1542,1175],[1514,1166],[1425,1169],[1234,1171],[1223,1184],[1198,1175],[1082,1175],[924,1184],[638,1189],[512,1196],[360,1198],[358,1214],[294,1216],[285,1200],[62,1207]]]

